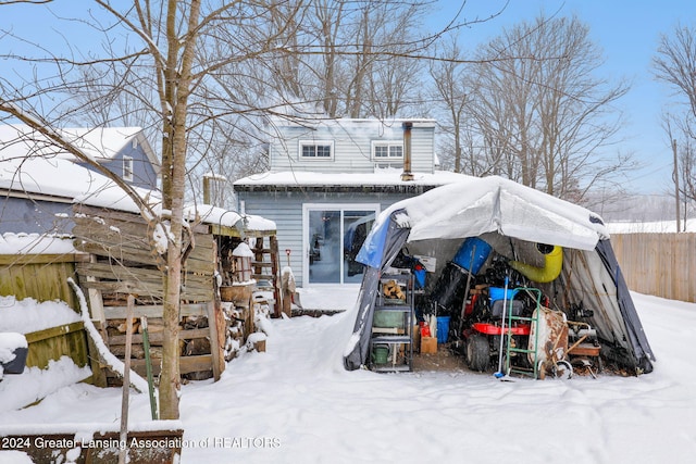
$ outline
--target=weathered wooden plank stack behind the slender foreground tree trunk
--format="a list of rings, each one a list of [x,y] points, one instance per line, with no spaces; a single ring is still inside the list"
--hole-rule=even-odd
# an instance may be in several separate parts
[[[154,227],[137,214],[75,205],[75,248],[90,253],[77,265],[92,319],[104,342],[117,356],[125,353],[125,317],[128,294],[136,296],[132,365],[145,375],[145,350],[139,319],[148,317],[153,374],[160,372],[164,258],[157,253]],[[222,344],[225,321],[215,304],[216,244],[206,227],[194,227],[182,275],[179,366],[184,379],[215,377],[224,369]],[[211,324],[211,321],[213,322]],[[221,327],[219,330],[217,327]],[[119,385],[107,372],[105,385]]]

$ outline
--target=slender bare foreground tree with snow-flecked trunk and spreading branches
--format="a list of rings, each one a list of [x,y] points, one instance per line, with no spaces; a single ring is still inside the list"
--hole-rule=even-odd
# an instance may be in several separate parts
[[[226,105],[226,111],[221,112],[223,114],[216,114],[219,108],[215,103],[225,98],[221,92],[225,89],[217,77],[229,68],[244,72],[245,61],[263,62],[266,57],[275,58],[282,53],[286,45],[283,39],[288,37],[287,27],[296,22],[293,21],[293,12],[287,10],[284,12],[288,20],[286,28],[274,29],[266,27],[266,22],[259,22],[264,17],[263,13],[285,2],[261,5],[244,2],[203,4],[200,0],[135,0],[124,5],[96,0],[95,3],[110,15],[109,24],[101,24],[87,14],[77,16],[78,13],[75,13],[78,18],[70,21],[88,23],[103,33],[103,54],[84,53],[80,57],[85,58],[78,60],[72,55],[63,57],[51,50],[50,45],[44,45],[41,53],[46,58],[37,58],[35,62],[54,66],[54,74],[28,79],[22,85],[1,81],[0,111],[42,131],[77,156],[80,153],[69,141],[52,137],[55,133],[52,127],[76,120],[84,113],[90,113],[92,117],[101,115],[104,120],[99,123],[108,124],[123,118],[129,109],[147,110],[150,114],[146,121],[159,122],[159,128],[152,128],[160,136],[163,208],[171,213],[166,224],[170,231],[167,249],[162,256],[165,271],[163,318],[167,336],[162,347],[160,417],[177,418],[181,269],[186,248],[191,246],[186,239],[187,225],[183,218],[187,174],[191,166],[199,165],[204,159],[207,146],[200,141],[208,139],[213,131],[228,127],[223,123],[211,125],[211,121],[223,121],[223,116],[232,112],[263,111],[258,99],[246,91],[235,99],[236,105],[232,109]],[[270,35],[269,32],[273,30],[275,34]],[[128,34],[130,41],[115,40],[113,37],[119,34]],[[213,45],[221,40],[221,36],[229,52],[212,55]],[[236,45],[234,49],[233,45]],[[26,62],[32,58],[22,57],[21,60]],[[212,95],[213,90],[216,93]],[[124,95],[130,103],[121,102]],[[59,101],[61,96],[64,100]],[[52,116],[41,117],[50,101],[58,101],[50,110]],[[145,215],[153,217],[151,212]]]

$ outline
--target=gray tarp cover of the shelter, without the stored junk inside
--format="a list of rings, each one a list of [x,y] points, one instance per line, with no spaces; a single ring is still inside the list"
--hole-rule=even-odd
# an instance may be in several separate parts
[[[497,176],[439,187],[382,212],[357,258],[366,267],[344,358],[347,369],[368,363],[378,277],[399,251],[434,258],[436,269],[428,279],[436,279],[469,237],[480,237],[496,253],[532,265],[540,265],[536,243],[562,247],[560,276],[539,288],[558,309],[582,304],[593,310],[586,322],[597,330],[602,356],[636,374],[651,372],[655,356],[602,220]]]

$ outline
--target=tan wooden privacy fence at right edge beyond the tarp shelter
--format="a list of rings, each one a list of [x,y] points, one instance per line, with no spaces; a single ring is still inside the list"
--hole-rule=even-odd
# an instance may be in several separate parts
[[[696,234],[613,234],[611,246],[631,290],[696,302]]]

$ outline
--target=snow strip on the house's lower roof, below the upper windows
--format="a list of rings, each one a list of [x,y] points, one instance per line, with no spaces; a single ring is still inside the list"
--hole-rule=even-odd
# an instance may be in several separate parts
[[[253,186],[298,186],[298,187],[362,187],[362,186],[442,186],[461,181],[462,174],[449,171],[434,173],[412,173],[413,180],[401,180],[402,170],[385,168],[374,173],[334,173],[279,172],[262,173],[244,177],[234,183],[235,187]]]

